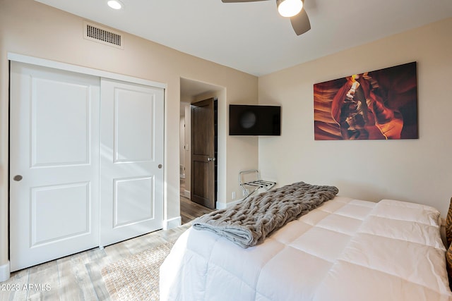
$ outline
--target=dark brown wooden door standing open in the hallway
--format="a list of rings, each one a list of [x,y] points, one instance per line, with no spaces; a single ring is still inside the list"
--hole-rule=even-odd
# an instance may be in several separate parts
[[[191,104],[191,200],[215,209],[214,99]]]

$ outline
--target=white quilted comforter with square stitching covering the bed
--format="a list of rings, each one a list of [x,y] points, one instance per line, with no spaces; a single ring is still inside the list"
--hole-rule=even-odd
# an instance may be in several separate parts
[[[190,228],[160,267],[160,300],[452,300],[439,221],[335,197],[248,249]]]

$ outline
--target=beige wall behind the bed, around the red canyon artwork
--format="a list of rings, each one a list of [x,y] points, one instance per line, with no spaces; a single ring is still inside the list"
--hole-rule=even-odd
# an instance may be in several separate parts
[[[313,85],[417,61],[418,140],[314,141]],[[452,197],[452,18],[262,76],[260,103],[281,104],[282,135],[259,138],[259,168],[278,185],[337,185],[340,195],[429,204]]]

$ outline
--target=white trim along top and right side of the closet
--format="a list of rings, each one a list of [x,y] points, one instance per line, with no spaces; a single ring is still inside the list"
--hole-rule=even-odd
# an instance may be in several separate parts
[[[59,70],[66,70],[66,71],[71,71],[71,72],[75,72],[75,73],[82,73],[85,75],[94,75],[97,76],[99,78],[109,78],[112,80],[121,80],[124,82],[131,82],[131,83],[135,83],[135,84],[139,84],[139,85],[147,85],[147,86],[151,86],[151,87],[159,87],[162,88],[164,91],[164,124],[166,123],[166,116],[167,116],[167,111],[166,108],[167,106],[165,105],[165,100],[166,100],[166,90],[167,90],[167,84],[162,83],[162,82],[154,82],[151,80],[145,80],[142,78],[134,78],[131,77],[129,75],[121,75],[121,74],[117,74],[117,73],[111,73],[108,71],[104,71],[104,70],[97,70],[97,69],[93,69],[93,68],[88,68],[88,67],[82,67],[82,66],[76,66],[76,65],[71,65],[69,63],[61,63],[61,62],[57,62],[57,61],[50,61],[47,59],[40,59],[40,58],[36,58],[36,57],[32,57],[32,56],[25,56],[23,54],[16,54],[16,53],[11,53],[8,52],[8,60],[9,61],[16,61],[16,62],[20,62],[20,63],[29,63],[32,65],[37,65],[37,66],[42,66],[42,67],[49,67],[49,68],[55,68],[55,69],[59,69]],[[165,145],[167,145],[167,133],[166,133],[166,127],[164,129],[164,149],[163,149],[163,156],[164,156],[164,164],[163,164],[163,179],[166,182],[166,164],[167,164],[167,158],[166,158],[166,148]],[[11,176],[11,175],[10,175]],[[10,177],[11,178],[11,177]],[[164,191],[163,191],[163,209],[165,209],[167,207],[167,186],[164,185]],[[166,215],[165,212],[163,212],[163,225],[162,228],[169,228],[169,224],[173,223],[172,221],[168,221],[167,219],[165,219]],[[179,226],[179,225],[178,225]],[[9,246],[8,246],[9,249]],[[3,268],[6,268],[9,270],[9,262],[7,265],[1,266],[1,275],[3,275],[1,278],[9,278],[9,271],[4,271]],[[7,275],[8,274],[8,275]]]

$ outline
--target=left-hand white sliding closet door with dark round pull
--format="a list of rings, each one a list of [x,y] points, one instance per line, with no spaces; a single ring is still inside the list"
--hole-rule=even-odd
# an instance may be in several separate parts
[[[11,61],[11,271],[99,242],[100,79]]]

